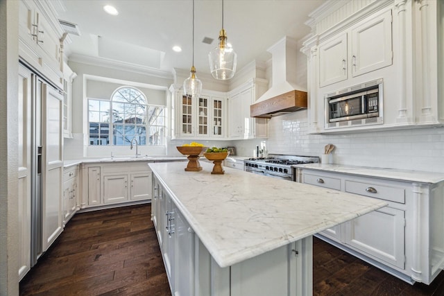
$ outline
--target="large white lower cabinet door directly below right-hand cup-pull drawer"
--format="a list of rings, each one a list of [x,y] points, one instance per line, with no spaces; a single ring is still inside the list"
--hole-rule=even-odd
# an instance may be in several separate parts
[[[345,223],[345,243],[404,269],[404,211],[384,207]]]

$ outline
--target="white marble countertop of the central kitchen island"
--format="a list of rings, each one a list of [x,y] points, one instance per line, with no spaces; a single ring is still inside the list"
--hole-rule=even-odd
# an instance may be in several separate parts
[[[234,168],[212,175],[185,164],[148,164],[178,209],[222,267],[366,214],[386,202]]]

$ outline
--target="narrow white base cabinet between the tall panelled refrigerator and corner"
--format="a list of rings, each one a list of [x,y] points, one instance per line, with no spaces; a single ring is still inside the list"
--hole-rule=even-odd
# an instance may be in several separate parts
[[[78,196],[78,166],[70,166],[63,173],[63,226],[76,213]]]

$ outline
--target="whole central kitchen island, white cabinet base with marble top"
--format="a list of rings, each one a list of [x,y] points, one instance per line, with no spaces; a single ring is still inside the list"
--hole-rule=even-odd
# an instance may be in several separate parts
[[[173,295],[311,295],[312,235],[387,204],[206,163],[148,165]]]

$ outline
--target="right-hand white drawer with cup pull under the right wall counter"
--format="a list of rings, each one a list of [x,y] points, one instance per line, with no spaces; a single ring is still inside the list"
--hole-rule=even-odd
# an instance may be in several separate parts
[[[391,202],[405,203],[405,189],[379,184],[361,183],[345,180],[345,192],[380,198]]]

